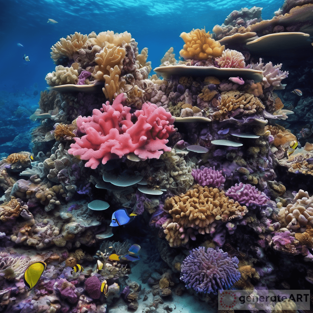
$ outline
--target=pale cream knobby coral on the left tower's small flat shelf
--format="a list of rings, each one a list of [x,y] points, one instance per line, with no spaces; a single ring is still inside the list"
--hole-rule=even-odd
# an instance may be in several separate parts
[[[58,65],[55,67],[55,71],[46,75],[45,80],[50,86],[76,85],[78,82],[78,71],[72,66],[64,67],[63,65]]]

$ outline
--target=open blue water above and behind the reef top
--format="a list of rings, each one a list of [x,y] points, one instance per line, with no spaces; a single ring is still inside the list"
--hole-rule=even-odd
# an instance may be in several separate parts
[[[262,7],[262,18],[269,19],[282,4],[283,1],[265,0],[2,1],[0,90],[24,90],[35,83],[38,90],[44,90],[44,77],[55,67],[50,58],[51,46],[74,32],[127,31],[138,42],[139,50],[148,48],[148,61],[155,68],[170,47],[179,55],[182,32],[204,27],[211,31],[233,10],[244,7]],[[47,23],[48,18],[58,23]],[[24,54],[30,62],[23,60]]]

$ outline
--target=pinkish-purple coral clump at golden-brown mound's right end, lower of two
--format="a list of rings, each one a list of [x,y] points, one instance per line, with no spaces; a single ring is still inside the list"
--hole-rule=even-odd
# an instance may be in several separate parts
[[[242,182],[230,187],[225,195],[238,201],[240,204],[244,204],[249,208],[262,207],[270,201],[269,197],[264,192],[260,192],[257,188],[250,184],[244,184]]]

